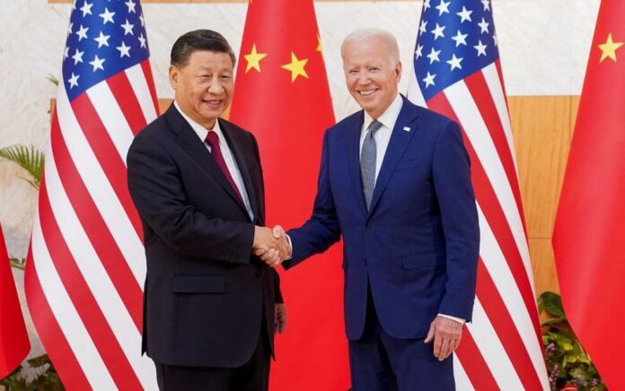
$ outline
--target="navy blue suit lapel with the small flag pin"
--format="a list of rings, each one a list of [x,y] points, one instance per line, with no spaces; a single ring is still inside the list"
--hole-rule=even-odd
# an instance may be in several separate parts
[[[374,196],[371,198],[369,214],[374,211],[375,205],[380,200],[384,189],[389,184],[392,173],[395,171],[397,164],[401,160],[401,156],[403,156],[404,152],[406,152],[408,144],[416,133],[416,125],[413,122],[418,117],[418,111],[412,103],[403,97],[402,99],[403,105],[401,106],[400,115],[397,117],[395,127],[392,129],[391,140],[389,140],[389,146],[386,148],[380,173],[375,180]]]

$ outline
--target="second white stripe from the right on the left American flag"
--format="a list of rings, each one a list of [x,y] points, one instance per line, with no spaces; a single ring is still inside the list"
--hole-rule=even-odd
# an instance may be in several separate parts
[[[93,108],[98,113],[98,117],[100,117],[102,125],[109,133],[110,140],[115,144],[119,157],[122,161],[126,161],[128,148],[130,148],[130,143],[132,143],[135,135],[133,135],[126,117],[124,117],[124,112],[119,108],[115,95],[110,91],[109,84],[106,81],[97,83],[86,92]]]

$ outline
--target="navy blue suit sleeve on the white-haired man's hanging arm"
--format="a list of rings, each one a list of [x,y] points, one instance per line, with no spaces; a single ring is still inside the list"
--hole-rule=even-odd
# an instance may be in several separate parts
[[[480,227],[471,185],[471,161],[460,127],[447,122],[436,140],[433,178],[445,233],[445,294],[439,313],[471,321]]]

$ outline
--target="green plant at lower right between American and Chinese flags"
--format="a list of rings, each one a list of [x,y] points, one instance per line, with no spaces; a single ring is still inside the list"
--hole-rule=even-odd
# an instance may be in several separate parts
[[[538,310],[548,315],[542,322],[542,343],[552,390],[607,390],[597,369],[568,324],[559,294],[545,291],[538,298]]]

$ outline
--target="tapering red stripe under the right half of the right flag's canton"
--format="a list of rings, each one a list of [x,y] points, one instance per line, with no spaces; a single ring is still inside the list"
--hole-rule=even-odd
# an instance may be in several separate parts
[[[501,165],[506,171],[508,184],[512,189],[512,194],[515,196],[517,212],[521,217],[521,222],[523,222],[525,231],[525,218],[523,204],[521,203],[519,180],[516,176],[515,161],[512,156],[512,151],[510,150],[511,145],[507,142],[506,131],[504,130],[501,118],[497,112],[497,106],[495,106],[495,100],[493,100],[493,96],[489,91],[489,85],[486,83],[484,74],[481,72],[476,72],[464,78],[464,83],[466,83],[472,99],[480,110],[481,117],[484,118],[484,123],[489,129],[490,138],[495,144]],[[526,231],[525,239],[527,239]]]

